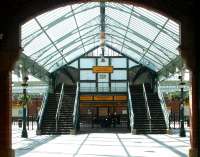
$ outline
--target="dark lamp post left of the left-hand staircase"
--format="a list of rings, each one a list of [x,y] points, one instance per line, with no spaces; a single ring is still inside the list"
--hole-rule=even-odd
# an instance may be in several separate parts
[[[28,137],[28,133],[26,130],[26,106],[27,106],[26,88],[28,86],[27,81],[28,81],[28,77],[25,76],[23,78],[23,83],[22,83],[22,87],[23,87],[23,102],[22,102],[23,103],[23,128],[22,128],[21,137],[23,137],[23,138]]]

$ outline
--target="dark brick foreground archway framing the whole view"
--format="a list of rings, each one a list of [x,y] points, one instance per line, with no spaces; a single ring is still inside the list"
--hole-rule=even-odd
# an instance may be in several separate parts
[[[76,2],[86,2],[86,1],[76,1]],[[132,1],[124,1],[126,3],[133,4]],[[49,1],[43,1],[43,2],[16,2],[15,7],[13,7],[13,10],[11,12],[7,12],[5,9],[2,9],[2,23],[1,29],[1,43],[0,43],[0,51],[2,63],[1,63],[1,93],[0,98],[2,100],[2,108],[1,108],[1,115],[5,118],[4,121],[1,121],[1,137],[3,138],[1,142],[1,148],[3,148],[2,152],[5,154],[4,156],[10,156],[9,152],[11,149],[10,143],[11,143],[11,134],[10,134],[10,79],[9,79],[9,71],[12,69],[12,66],[14,62],[17,59],[18,52],[19,52],[19,46],[20,46],[20,31],[19,26],[21,23],[25,22],[28,18],[39,14],[41,12],[44,12],[45,10],[56,8],[58,6],[66,5],[66,4],[72,4],[75,2],[49,2]],[[181,2],[180,2],[181,3]],[[175,18],[180,21],[181,23],[181,53],[183,54],[183,57],[186,59],[187,65],[191,68],[193,71],[193,113],[196,113],[197,111],[197,78],[198,73],[196,73],[196,59],[195,59],[195,49],[194,49],[194,22],[192,19],[192,16],[190,15],[190,11],[193,9],[193,5],[187,4],[185,2],[180,4],[180,8],[174,6],[173,4],[167,3],[164,4],[162,1],[155,1],[155,2],[137,2],[135,1],[134,4],[141,5],[144,7],[149,7],[152,9],[155,9],[157,11],[160,11],[163,14],[166,14],[172,18]],[[177,6],[179,3],[177,2]],[[7,4],[7,7],[9,6],[9,2]],[[174,6],[171,8],[171,6]],[[181,6],[187,6],[187,7],[181,7]],[[2,8],[4,6],[2,5]],[[6,7],[6,6],[5,6]],[[32,9],[30,9],[32,8]],[[183,15],[182,13],[185,13]],[[11,16],[10,16],[11,15]],[[190,27],[189,27],[190,26]],[[18,31],[16,31],[18,30]],[[190,42],[188,42],[190,41]],[[196,89],[195,89],[196,88]],[[7,93],[8,92],[8,93]],[[197,124],[197,115],[194,115],[193,122]],[[5,127],[7,126],[7,127]],[[198,126],[198,125],[197,125]],[[197,127],[196,126],[196,127]],[[9,131],[8,131],[9,130]],[[192,139],[194,137],[197,137],[197,130],[194,131],[192,136]],[[196,141],[196,142],[195,142]],[[193,147],[197,148],[197,141],[193,140]]]

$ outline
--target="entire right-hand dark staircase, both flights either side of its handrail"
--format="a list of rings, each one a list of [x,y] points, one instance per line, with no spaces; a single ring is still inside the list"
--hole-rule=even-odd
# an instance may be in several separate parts
[[[166,124],[158,94],[154,93],[148,84],[145,85],[145,89],[151,115],[151,123],[149,123],[150,121],[147,116],[142,85],[131,87],[131,98],[135,118],[134,129],[136,130],[136,134],[165,134]]]

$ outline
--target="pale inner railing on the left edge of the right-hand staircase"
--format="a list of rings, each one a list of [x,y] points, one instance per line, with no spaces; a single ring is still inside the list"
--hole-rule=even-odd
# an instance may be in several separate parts
[[[131,91],[130,91],[129,83],[128,83],[128,109],[129,109],[129,119],[130,119],[131,132],[133,132],[133,129],[134,129],[134,113],[133,113],[133,105],[132,105],[132,98],[131,98]]]

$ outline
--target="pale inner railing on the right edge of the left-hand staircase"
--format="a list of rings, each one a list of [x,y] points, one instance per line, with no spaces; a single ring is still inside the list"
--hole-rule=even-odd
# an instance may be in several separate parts
[[[78,126],[78,119],[79,119],[79,83],[77,82],[76,86],[76,96],[74,101],[74,111],[73,111],[73,128],[76,130]]]

